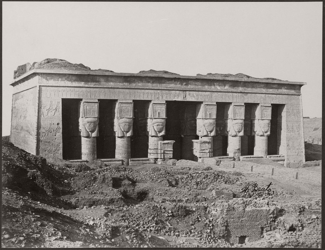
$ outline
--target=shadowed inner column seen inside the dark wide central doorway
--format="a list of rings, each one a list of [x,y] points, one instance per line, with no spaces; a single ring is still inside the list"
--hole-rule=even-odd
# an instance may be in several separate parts
[[[196,138],[196,105],[185,105],[180,114],[182,159],[194,160],[192,140]]]

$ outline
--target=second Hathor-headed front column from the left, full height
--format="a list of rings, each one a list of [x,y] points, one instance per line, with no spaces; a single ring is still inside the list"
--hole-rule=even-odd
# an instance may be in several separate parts
[[[133,101],[117,100],[114,103],[115,158],[128,166],[131,157],[130,137],[133,135]]]

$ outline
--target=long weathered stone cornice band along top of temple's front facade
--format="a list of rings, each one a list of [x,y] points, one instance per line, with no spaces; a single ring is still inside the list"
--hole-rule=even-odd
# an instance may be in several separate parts
[[[267,92],[267,93],[300,93],[301,84],[284,84],[276,82],[233,81],[202,79],[193,77],[141,77],[141,76],[114,76],[114,75],[84,75],[84,74],[51,74],[42,73],[40,84],[56,86],[94,86],[94,87],[119,87],[135,89],[158,90],[203,90],[227,92]],[[156,91],[159,95],[159,91]],[[187,95],[187,93],[185,93]],[[182,95],[183,97],[183,95]],[[147,99],[150,100],[150,99]],[[155,99],[151,99],[155,100]]]

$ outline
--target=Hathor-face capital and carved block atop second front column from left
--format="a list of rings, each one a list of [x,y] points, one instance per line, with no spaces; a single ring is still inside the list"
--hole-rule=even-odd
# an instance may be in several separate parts
[[[113,108],[114,131],[116,137],[130,137],[133,135],[133,102],[132,100],[118,100]]]

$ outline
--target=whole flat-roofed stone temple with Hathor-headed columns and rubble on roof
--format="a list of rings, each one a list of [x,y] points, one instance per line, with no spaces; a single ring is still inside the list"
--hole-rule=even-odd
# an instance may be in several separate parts
[[[106,164],[268,158],[305,162],[305,83],[243,74],[115,73],[60,59],[14,73],[10,140],[29,153]]]

